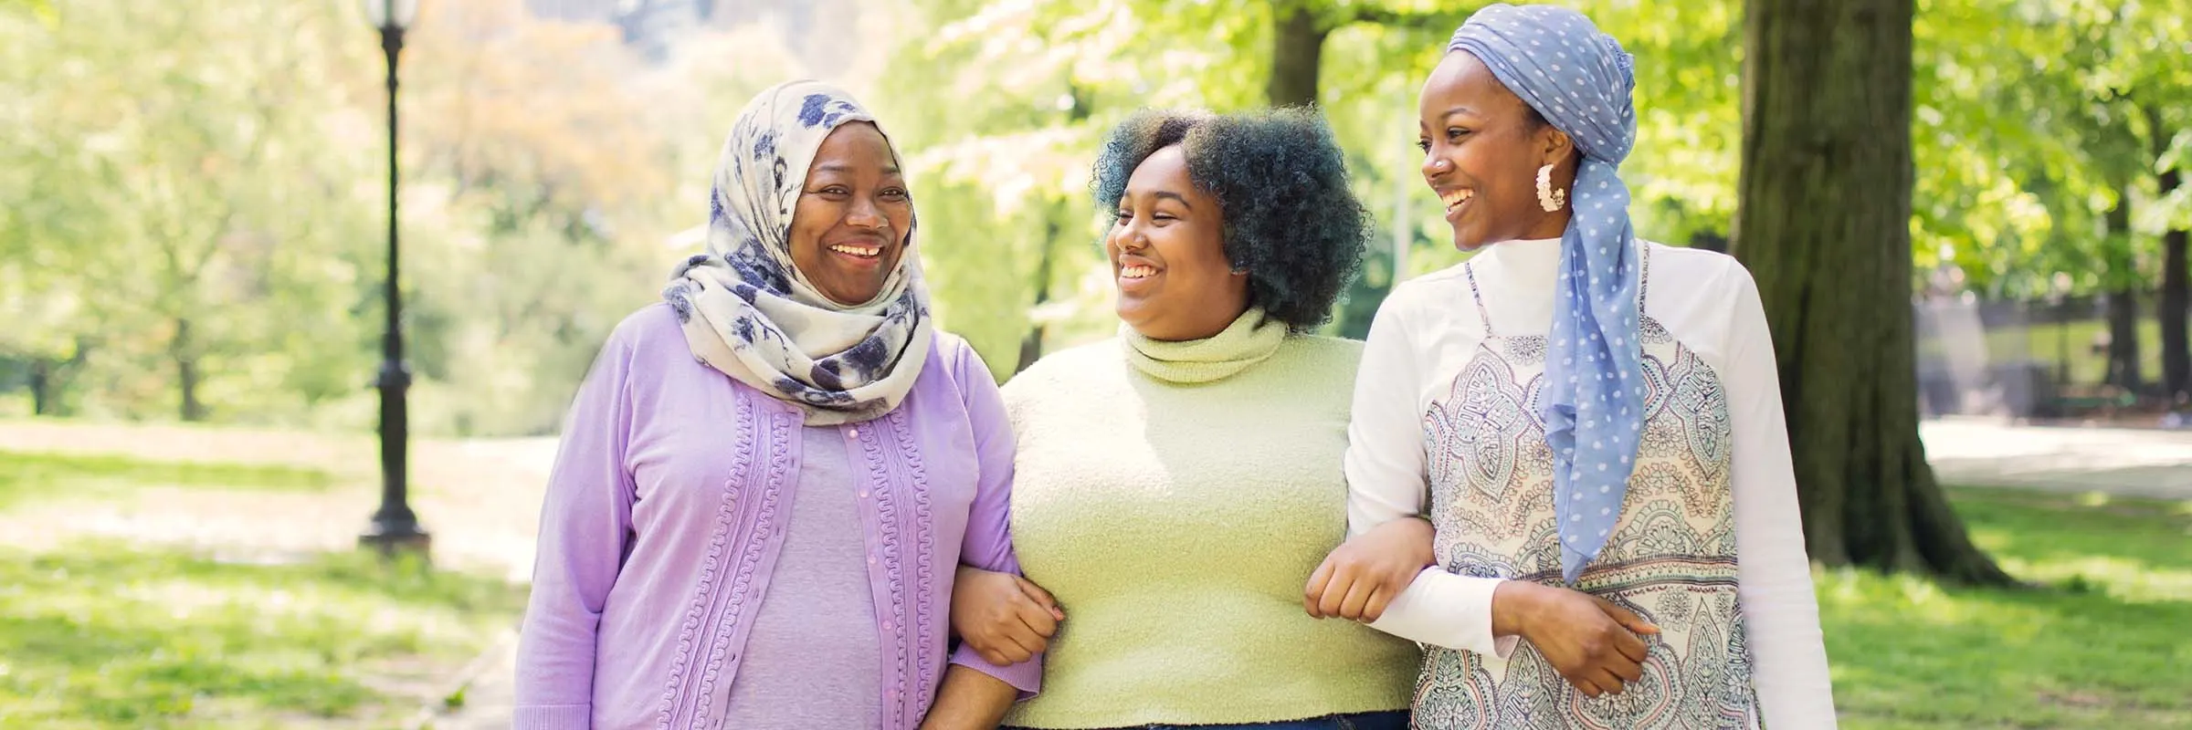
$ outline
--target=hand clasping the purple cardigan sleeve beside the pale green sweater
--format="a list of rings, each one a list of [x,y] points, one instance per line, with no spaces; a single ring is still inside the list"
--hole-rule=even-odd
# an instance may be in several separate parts
[[[1050,592],[1011,572],[958,568],[951,583],[951,631],[997,666],[1019,664],[1050,647],[1065,612]]]

